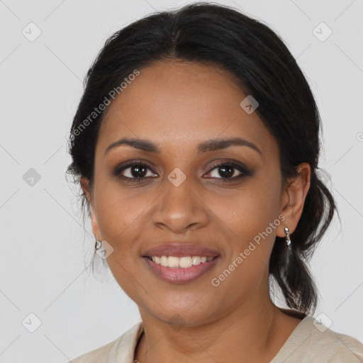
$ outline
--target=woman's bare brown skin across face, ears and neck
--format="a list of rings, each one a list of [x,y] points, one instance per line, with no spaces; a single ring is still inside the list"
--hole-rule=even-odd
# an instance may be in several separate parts
[[[94,235],[113,247],[108,266],[138,304],[145,334],[134,358],[141,363],[269,362],[301,322],[270,300],[268,264],[285,226],[294,243],[311,169],[300,164],[298,177],[282,184],[277,141],[256,112],[242,110],[245,96],[228,71],[164,60],[140,69],[106,109],[93,188],[84,178],[81,184]],[[125,137],[150,140],[162,152],[121,145],[105,155],[108,145]],[[235,137],[254,143],[262,155],[247,146],[197,152],[203,141]],[[131,168],[113,175],[121,162],[138,159],[150,166],[142,181],[122,179],[133,177]],[[225,181],[214,164],[226,160],[244,164],[251,175]],[[179,186],[167,179],[176,167],[186,175]],[[233,177],[241,174],[233,170]],[[284,221],[213,286],[211,279],[281,213]],[[220,261],[196,281],[163,281],[150,272],[141,252],[170,240],[216,249]]]

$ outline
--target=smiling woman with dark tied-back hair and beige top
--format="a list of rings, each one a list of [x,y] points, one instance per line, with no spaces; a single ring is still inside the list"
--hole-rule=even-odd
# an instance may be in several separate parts
[[[360,342],[311,316],[306,259],[335,212],[319,133],[294,57],[238,11],[191,4],[112,35],[68,171],[142,322],[72,362],[362,362]]]

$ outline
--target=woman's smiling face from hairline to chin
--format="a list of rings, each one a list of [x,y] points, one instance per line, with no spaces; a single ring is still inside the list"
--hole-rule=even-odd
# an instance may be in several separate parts
[[[277,142],[257,113],[240,106],[246,96],[226,71],[165,61],[140,69],[106,109],[89,199],[92,228],[113,247],[107,262],[118,284],[140,311],[164,322],[199,325],[268,298],[269,256],[289,225],[280,215],[287,199]],[[159,152],[126,144],[108,149],[123,138]],[[234,138],[247,143],[199,147]],[[133,160],[136,166],[123,169]],[[167,280],[143,256],[170,241],[218,257],[189,281],[171,281],[176,269],[162,267]]]

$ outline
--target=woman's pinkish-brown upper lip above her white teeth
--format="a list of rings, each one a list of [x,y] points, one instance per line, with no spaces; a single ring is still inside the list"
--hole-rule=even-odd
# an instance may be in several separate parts
[[[213,250],[201,245],[193,245],[191,243],[180,242],[167,242],[163,245],[152,247],[142,252],[143,257],[153,256],[172,256],[172,257],[184,257],[184,256],[201,256],[201,257],[216,257],[219,256],[217,250]]]

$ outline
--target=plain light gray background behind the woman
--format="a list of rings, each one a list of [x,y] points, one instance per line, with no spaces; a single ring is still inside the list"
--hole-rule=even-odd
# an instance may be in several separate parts
[[[82,79],[106,38],[155,9],[188,2],[0,1],[0,362],[67,362],[140,320],[110,272],[98,281],[86,269],[94,239],[65,179],[66,137]],[[311,261],[315,316],[324,313],[331,329],[362,341],[362,0],[220,2],[277,31],[311,85],[323,119],[320,167],[341,216]],[[321,22],[333,31],[324,41]],[[29,313],[41,320],[34,333],[22,324],[35,324]]]

